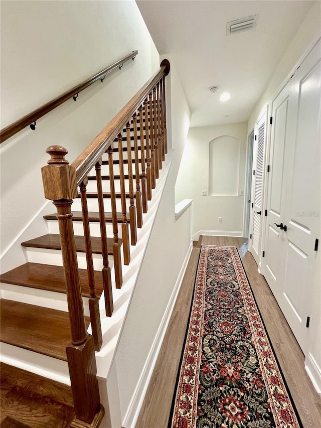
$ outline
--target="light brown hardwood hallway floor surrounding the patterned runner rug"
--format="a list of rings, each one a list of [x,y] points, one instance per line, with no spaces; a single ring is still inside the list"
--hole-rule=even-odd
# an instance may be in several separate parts
[[[194,242],[181,290],[135,428],[167,428],[189,317],[200,244],[236,246],[274,351],[304,428],[321,426],[321,399],[304,370],[302,354],[244,238],[203,236]],[[213,427],[215,428],[215,427]]]

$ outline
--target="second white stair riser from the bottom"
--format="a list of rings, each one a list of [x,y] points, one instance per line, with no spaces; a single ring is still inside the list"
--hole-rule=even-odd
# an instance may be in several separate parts
[[[2,299],[13,300],[15,302],[28,303],[29,305],[42,306],[43,308],[51,308],[57,309],[58,311],[68,312],[67,297],[64,293],[16,286],[2,282],[1,297]],[[82,301],[85,315],[89,316],[88,298],[83,297]]]

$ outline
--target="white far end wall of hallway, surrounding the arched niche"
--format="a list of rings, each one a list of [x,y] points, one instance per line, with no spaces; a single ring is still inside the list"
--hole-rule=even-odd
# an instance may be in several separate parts
[[[244,190],[247,123],[190,128],[176,182],[176,201],[193,199],[192,235],[200,230],[242,232],[243,196],[201,196],[209,188],[209,144],[230,135],[241,141],[239,190]],[[222,223],[218,222],[222,217]],[[196,239],[196,236],[194,236]]]

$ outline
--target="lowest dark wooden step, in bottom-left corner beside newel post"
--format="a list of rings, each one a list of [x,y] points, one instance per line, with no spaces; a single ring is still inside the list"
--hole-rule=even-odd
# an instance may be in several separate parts
[[[0,363],[1,428],[67,428],[74,416],[71,387]]]

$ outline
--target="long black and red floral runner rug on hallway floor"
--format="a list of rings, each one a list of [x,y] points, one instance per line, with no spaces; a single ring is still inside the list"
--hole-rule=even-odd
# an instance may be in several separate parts
[[[302,427],[235,247],[202,245],[169,427]]]

